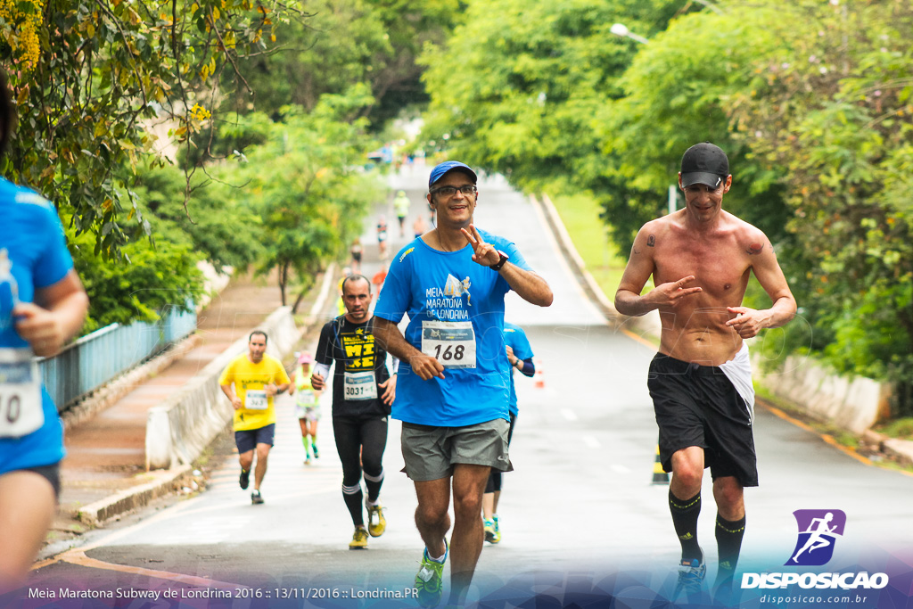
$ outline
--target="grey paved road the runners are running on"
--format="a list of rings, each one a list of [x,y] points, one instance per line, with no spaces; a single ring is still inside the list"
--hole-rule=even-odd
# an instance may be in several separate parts
[[[393,184],[413,197],[413,215],[425,213],[419,199],[423,179]],[[550,280],[555,304],[541,310],[509,301],[507,318],[527,329],[544,387],[519,378],[520,416],[511,447],[516,471],[505,477],[499,509],[503,541],[482,552],[469,600],[516,606],[539,594],[541,606],[605,606],[612,595],[617,606],[651,606],[656,591],[669,591],[677,561],[667,487],[650,484],[656,424],[645,375],[654,349],[604,324],[568,279],[530,203],[499,180],[481,184],[480,191],[478,225],[517,240],[530,264]],[[391,232],[395,251],[398,239]],[[373,226],[367,226],[362,241],[372,243],[372,237]],[[323,412],[329,415],[329,404]],[[329,591],[330,598],[305,606],[402,606],[404,601],[383,596],[408,589],[421,541],[412,522],[415,495],[399,473],[399,425],[391,425],[384,458],[388,531],[372,539],[368,551],[348,551],[352,525],[341,500],[330,421],[325,415],[321,423],[321,458],[305,467],[288,396],[280,398],[278,413],[265,505],[250,505],[248,493],[237,487],[236,462],[228,459],[200,496],[102,531],[88,547],[41,569],[32,594],[61,588],[168,591],[183,595],[186,606],[297,607],[304,604],[301,595]],[[747,492],[743,569],[784,570],[796,541],[796,509],[845,511],[845,537],[829,570],[862,570],[857,563],[870,571],[897,568],[889,561],[900,564],[910,556],[913,530],[905,522],[913,478],[866,466],[763,409],[756,436],[762,486]],[[703,495],[698,537],[715,565],[709,484]],[[234,599],[186,598],[220,591]],[[353,593],[368,597],[345,597]],[[283,595],[292,598],[279,600]],[[23,606],[45,606],[37,599],[30,603]],[[114,601],[99,603],[89,606]],[[754,598],[745,606],[759,604]]]

